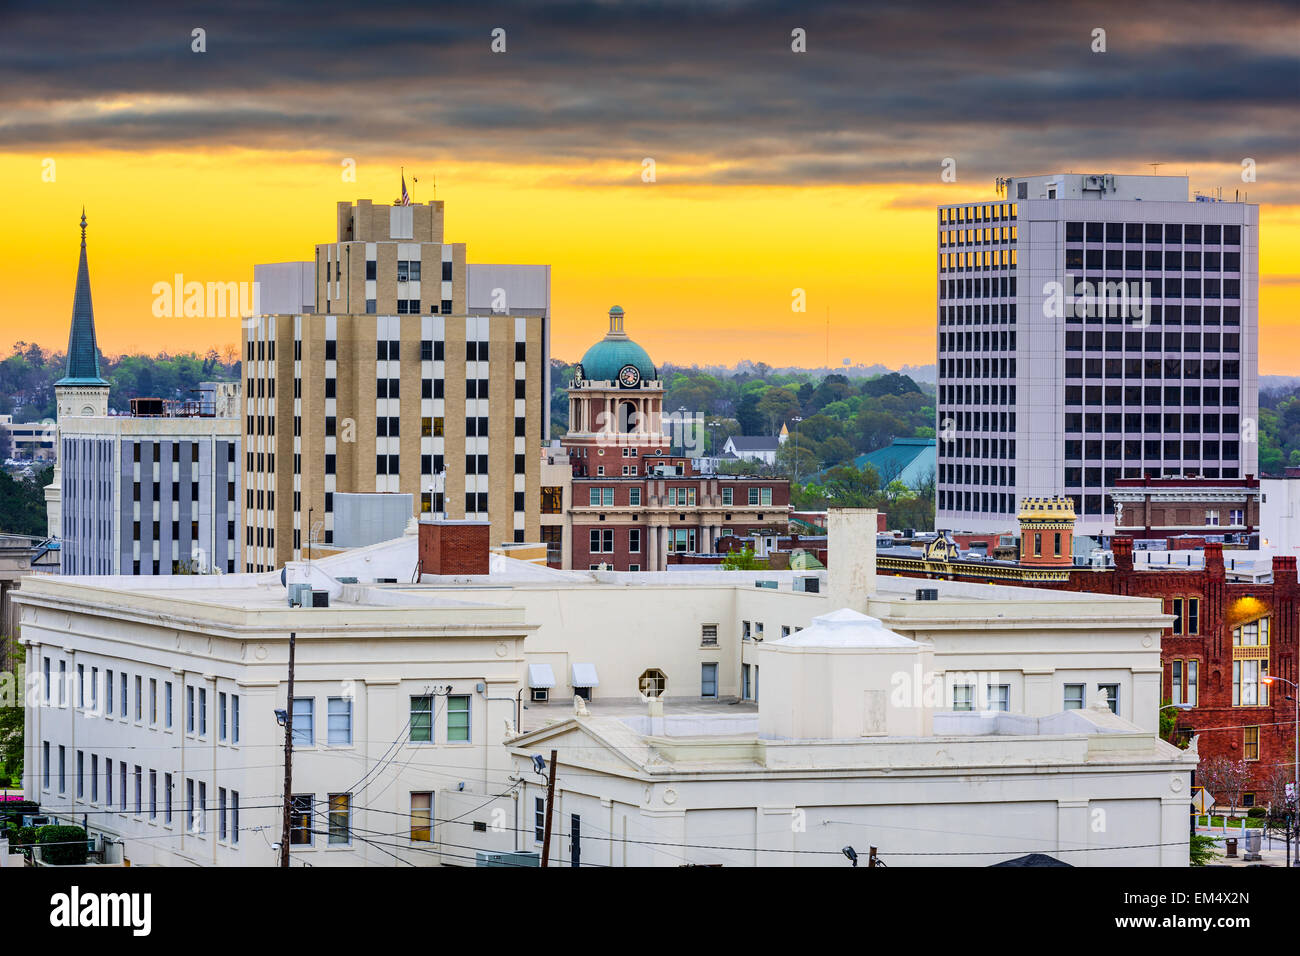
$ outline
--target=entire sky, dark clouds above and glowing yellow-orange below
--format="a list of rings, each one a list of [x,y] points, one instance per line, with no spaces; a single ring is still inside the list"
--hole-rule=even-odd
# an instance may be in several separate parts
[[[153,284],[309,258],[404,166],[471,260],[552,265],[560,358],[619,303],[659,360],[928,363],[936,203],[1161,163],[1261,204],[1261,365],[1300,373],[1295,5],[1062,7],[4,4],[0,351],[62,347],[83,202],[104,351],[220,347]]]

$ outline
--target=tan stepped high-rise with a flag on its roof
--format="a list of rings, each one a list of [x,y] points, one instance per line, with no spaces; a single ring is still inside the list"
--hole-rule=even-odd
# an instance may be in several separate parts
[[[246,570],[304,557],[311,527],[329,549],[335,493],[540,540],[549,267],[469,267],[442,224],[441,202],[339,203],[315,311],[246,320]]]

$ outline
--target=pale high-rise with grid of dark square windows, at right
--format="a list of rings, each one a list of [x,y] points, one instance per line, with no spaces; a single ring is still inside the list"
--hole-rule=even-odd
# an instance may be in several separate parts
[[[939,207],[937,524],[1009,531],[1118,477],[1257,472],[1258,206],[1186,177],[1013,177]]]

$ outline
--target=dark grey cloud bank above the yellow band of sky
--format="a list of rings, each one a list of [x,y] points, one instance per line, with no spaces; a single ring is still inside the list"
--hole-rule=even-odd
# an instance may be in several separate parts
[[[1300,199],[1300,38],[1280,3],[125,9],[0,12],[0,148],[654,156],[719,164],[696,174],[719,183],[923,185],[952,156],[974,181],[1164,161],[1222,166],[1228,186],[1252,156],[1252,193]]]

